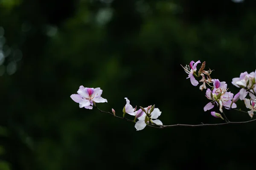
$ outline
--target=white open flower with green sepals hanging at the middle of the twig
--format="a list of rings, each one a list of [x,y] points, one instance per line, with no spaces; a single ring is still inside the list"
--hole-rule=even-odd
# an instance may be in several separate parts
[[[160,116],[162,113],[158,108],[154,108],[154,110],[151,113],[148,113],[151,111],[151,109],[144,109],[147,112],[147,114],[143,112],[142,116],[138,117],[139,121],[135,124],[136,130],[143,130],[149,122],[154,123],[156,125],[163,125],[163,123],[159,119],[157,119],[158,116]]]

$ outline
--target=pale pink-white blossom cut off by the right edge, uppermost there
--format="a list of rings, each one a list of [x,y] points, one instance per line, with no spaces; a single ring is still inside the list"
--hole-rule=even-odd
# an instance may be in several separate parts
[[[252,89],[255,90],[255,77],[256,77],[256,71],[255,72],[251,72],[250,74],[247,73],[247,71],[245,71],[244,73],[240,74],[240,77],[236,77],[232,79],[232,84],[235,85],[236,87],[240,87],[240,95],[239,98],[240,100],[243,100],[247,94],[248,94],[248,90],[250,90],[250,92],[253,92]],[[255,98],[255,96],[252,93],[249,93],[251,98]]]

